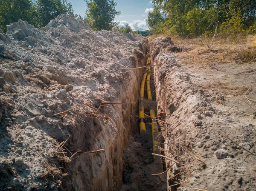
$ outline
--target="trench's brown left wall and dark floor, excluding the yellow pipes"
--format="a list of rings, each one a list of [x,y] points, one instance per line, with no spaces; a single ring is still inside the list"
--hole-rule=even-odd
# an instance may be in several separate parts
[[[161,157],[153,153],[150,109],[157,111],[154,85],[154,71],[151,67],[150,86],[152,100],[147,98],[144,89],[146,131],[140,134],[139,128],[139,93],[143,73],[141,68],[150,55],[148,42],[136,52],[137,58],[131,57],[131,74],[125,74],[125,81],[119,88],[119,94],[107,100],[113,103],[133,103],[108,105],[101,112],[108,114],[107,122],[87,119],[77,125],[69,142],[70,151],[77,148],[82,151],[94,151],[95,154],[80,154],[70,164],[70,182],[75,191],[166,191],[166,174],[163,173]],[[160,129],[159,129],[160,130]],[[163,140],[161,140],[163,142]],[[159,153],[161,154],[161,153]],[[159,175],[160,174],[160,175]]]

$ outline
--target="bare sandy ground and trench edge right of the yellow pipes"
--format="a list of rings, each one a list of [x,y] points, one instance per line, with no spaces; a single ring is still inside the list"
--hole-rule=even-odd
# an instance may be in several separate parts
[[[256,63],[180,65],[157,46],[161,39],[150,48],[161,65],[154,67],[158,111],[175,115],[161,127],[165,154],[178,161],[166,160],[169,190],[255,190]]]

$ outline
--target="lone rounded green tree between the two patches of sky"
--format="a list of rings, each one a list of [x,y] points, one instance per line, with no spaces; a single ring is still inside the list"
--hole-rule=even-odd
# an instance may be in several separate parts
[[[114,19],[120,12],[116,11],[114,0],[85,0],[87,3],[86,21],[93,30],[111,30],[116,23]]]

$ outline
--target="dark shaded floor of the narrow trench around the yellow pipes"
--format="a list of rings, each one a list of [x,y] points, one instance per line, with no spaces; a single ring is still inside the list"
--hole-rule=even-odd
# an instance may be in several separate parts
[[[143,131],[143,134],[140,135],[139,111],[137,110],[136,127],[134,127],[134,132],[130,136],[130,144],[123,156],[124,184],[121,191],[167,191],[166,174],[152,175],[163,172],[163,164],[159,160],[154,160],[152,155],[153,143],[149,110],[153,107],[157,111],[153,71],[150,85],[153,102],[147,100],[147,88],[144,89],[146,132]]]

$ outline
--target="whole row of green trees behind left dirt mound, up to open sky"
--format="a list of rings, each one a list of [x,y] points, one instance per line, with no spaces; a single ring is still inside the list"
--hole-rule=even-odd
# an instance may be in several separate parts
[[[0,0],[0,29],[6,32],[6,25],[26,20],[37,28],[46,26],[50,20],[59,14],[71,14],[84,20],[96,31],[101,29],[111,30],[117,27],[114,22],[116,3],[114,0],[85,0],[87,3],[86,17],[74,14],[71,3],[67,0]],[[131,28],[116,28],[122,32],[129,32]]]

